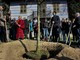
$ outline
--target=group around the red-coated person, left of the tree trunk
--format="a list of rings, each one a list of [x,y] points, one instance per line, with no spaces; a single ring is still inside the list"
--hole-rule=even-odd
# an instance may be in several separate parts
[[[37,27],[37,18],[34,18],[33,20],[27,20],[25,17],[22,18],[19,16],[18,20],[15,18],[11,20],[9,37],[11,40],[24,38],[32,39],[34,34],[34,37],[37,38]]]

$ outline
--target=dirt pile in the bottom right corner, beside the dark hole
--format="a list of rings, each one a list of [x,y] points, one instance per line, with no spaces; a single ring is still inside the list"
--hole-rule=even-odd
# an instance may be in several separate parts
[[[67,60],[80,60],[80,50],[66,47],[57,56],[62,57],[61,60],[63,58]]]

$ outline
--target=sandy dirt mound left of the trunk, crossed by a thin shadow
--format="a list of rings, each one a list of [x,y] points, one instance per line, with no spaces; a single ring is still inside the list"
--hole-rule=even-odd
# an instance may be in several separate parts
[[[26,48],[29,51],[34,50],[34,45],[35,43],[33,41],[27,40],[0,44],[0,60],[24,60],[25,58],[22,55],[26,53]]]

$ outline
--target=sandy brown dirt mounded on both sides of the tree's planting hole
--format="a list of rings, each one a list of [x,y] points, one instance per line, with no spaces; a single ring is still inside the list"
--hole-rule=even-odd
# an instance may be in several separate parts
[[[80,49],[74,49],[64,44],[57,44],[53,42],[41,42],[41,48],[48,49],[52,52],[53,50],[56,51],[61,48],[61,51],[59,50],[54,59],[52,57],[49,60],[80,60]],[[23,55],[27,51],[34,50],[36,50],[36,41],[34,40],[22,40],[9,43],[2,43],[0,44],[0,60],[26,60],[26,58],[23,58]]]

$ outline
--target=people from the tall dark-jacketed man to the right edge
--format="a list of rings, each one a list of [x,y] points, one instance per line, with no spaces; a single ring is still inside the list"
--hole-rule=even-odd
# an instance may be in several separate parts
[[[51,26],[52,41],[59,41],[62,38],[65,43],[66,41],[70,43],[70,34],[72,34],[73,41],[76,40],[80,44],[80,13],[75,14],[73,21],[70,21],[68,18],[62,18],[60,21],[59,16],[54,12],[54,16],[51,19]]]

